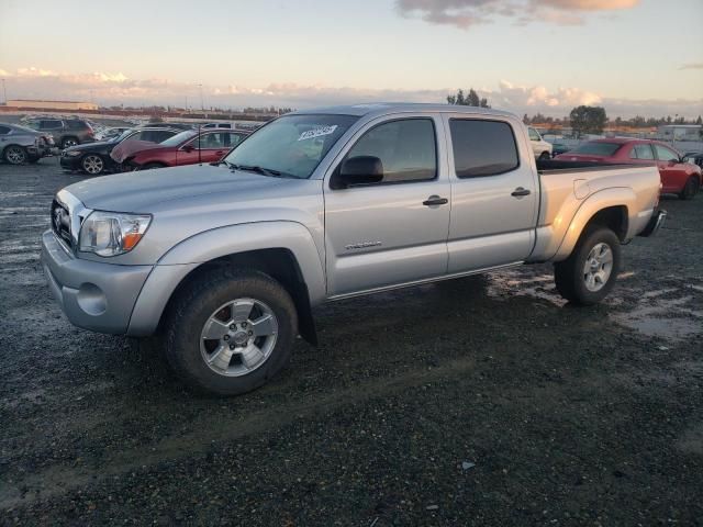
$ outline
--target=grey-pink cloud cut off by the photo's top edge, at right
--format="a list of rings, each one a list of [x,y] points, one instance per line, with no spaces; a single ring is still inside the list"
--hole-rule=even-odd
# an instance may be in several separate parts
[[[559,25],[583,23],[590,12],[632,9],[639,0],[397,0],[403,16],[420,16],[433,24],[468,29],[495,19],[517,24],[534,21]]]

